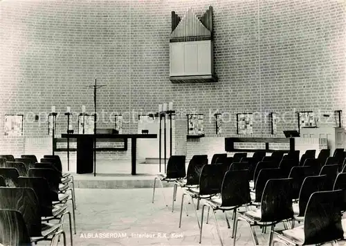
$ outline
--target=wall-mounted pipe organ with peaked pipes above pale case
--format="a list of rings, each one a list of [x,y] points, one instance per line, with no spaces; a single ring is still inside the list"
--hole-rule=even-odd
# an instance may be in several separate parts
[[[172,11],[170,80],[172,83],[217,82],[211,6],[201,17],[191,8],[183,17]]]

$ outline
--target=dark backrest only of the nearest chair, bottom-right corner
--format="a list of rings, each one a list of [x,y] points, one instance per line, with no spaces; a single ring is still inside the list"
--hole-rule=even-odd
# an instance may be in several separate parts
[[[311,195],[304,216],[304,245],[322,245],[343,239],[340,200],[343,191],[320,191]]]

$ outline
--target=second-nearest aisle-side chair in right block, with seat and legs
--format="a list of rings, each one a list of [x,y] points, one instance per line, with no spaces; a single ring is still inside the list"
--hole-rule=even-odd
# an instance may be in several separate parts
[[[291,198],[292,182],[293,180],[291,178],[271,179],[266,182],[260,209],[246,211],[236,218],[233,245],[235,245],[236,242],[237,225],[240,220],[247,223],[250,227],[254,245],[258,245],[257,236],[253,230],[255,226],[271,227],[271,234],[269,237],[269,242],[271,242],[275,225],[282,220],[290,220],[293,218]]]

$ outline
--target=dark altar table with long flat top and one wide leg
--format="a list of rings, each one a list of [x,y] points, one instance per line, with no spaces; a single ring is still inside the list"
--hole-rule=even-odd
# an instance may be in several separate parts
[[[62,138],[77,139],[77,173],[95,173],[94,141],[107,139],[131,139],[131,175],[136,175],[138,138],[157,138],[157,134],[62,134]],[[69,149],[67,149],[69,151]]]

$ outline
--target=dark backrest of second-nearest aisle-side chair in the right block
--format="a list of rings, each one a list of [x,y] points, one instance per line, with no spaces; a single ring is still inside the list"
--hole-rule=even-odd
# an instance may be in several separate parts
[[[261,222],[280,222],[293,218],[291,178],[266,182],[261,200]]]

